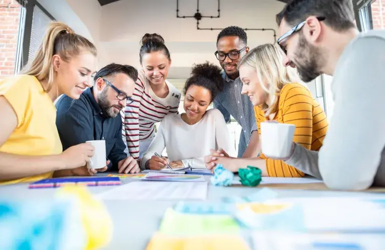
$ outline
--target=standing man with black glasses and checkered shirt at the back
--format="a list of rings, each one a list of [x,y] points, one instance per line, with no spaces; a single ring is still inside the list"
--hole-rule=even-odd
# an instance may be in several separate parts
[[[227,27],[219,33],[215,56],[224,69],[225,79],[223,91],[214,100],[214,108],[221,111],[227,123],[230,116],[242,126],[238,145],[238,157],[255,157],[258,155],[258,131],[254,116],[254,106],[250,98],[242,95],[242,82],[237,69],[242,57],[249,52],[246,32],[236,26]],[[250,143],[249,143],[250,142]],[[227,156],[224,151],[220,155]]]

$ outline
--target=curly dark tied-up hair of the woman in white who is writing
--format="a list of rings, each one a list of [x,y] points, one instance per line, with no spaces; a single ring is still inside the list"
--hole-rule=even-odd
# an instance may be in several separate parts
[[[210,102],[213,102],[218,93],[223,90],[224,84],[225,80],[222,77],[222,69],[206,61],[206,63],[193,66],[191,77],[186,80],[184,85],[183,94],[186,95],[188,88],[193,85],[204,87],[210,91]]]

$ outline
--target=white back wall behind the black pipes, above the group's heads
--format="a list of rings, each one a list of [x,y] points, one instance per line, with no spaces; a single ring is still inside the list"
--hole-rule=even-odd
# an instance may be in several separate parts
[[[216,16],[217,0],[200,1],[204,16]],[[193,16],[197,1],[179,0],[179,15]],[[274,0],[221,0],[221,18],[202,19],[201,28],[242,28],[277,30],[275,15],[284,4]],[[110,62],[139,66],[140,39],[145,33],[160,34],[170,50],[172,65],[170,78],[187,78],[194,63],[214,56],[220,31],[197,30],[195,19],[177,19],[175,0],[121,0],[102,7],[101,43],[108,51]],[[273,43],[271,31],[248,31],[251,48]],[[278,34],[277,34],[278,35]]]

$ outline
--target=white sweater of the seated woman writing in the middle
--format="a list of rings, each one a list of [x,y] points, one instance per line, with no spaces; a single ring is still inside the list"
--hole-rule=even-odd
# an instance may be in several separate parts
[[[205,168],[203,157],[210,154],[210,149],[223,148],[231,156],[235,155],[234,142],[231,143],[225,119],[218,109],[208,110],[202,120],[194,125],[185,123],[180,115],[166,115],[143,155],[141,168],[145,168],[155,152],[160,155],[164,148],[169,161],[181,160],[184,166],[193,168]]]

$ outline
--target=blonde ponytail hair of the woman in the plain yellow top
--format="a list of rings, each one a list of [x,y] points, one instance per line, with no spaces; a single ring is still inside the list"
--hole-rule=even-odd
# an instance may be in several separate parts
[[[75,34],[64,23],[52,22],[34,59],[23,69],[22,74],[34,76],[40,82],[47,80],[48,85],[45,91],[49,92],[54,83],[53,56],[59,55],[62,60],[68,62],[82,49],[89,51],[95,57],[97,56],[95,46],[88,39]]]

